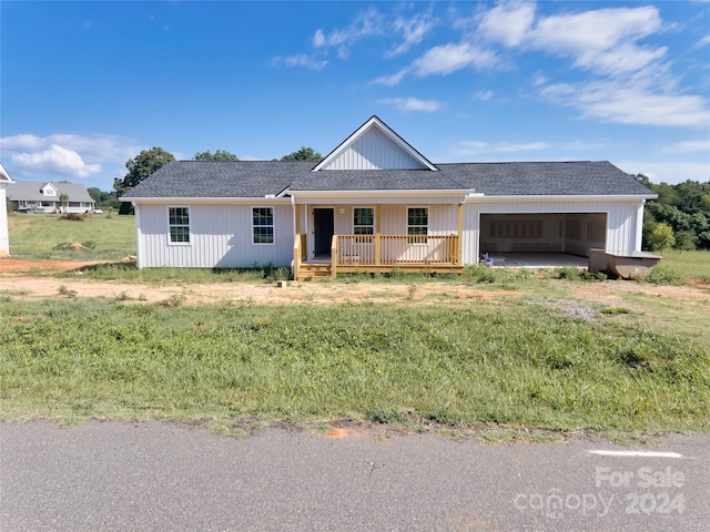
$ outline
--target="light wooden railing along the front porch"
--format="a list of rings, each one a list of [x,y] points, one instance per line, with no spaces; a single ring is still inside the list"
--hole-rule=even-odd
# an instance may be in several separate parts
[[[337,265],[457,265],[458,235],[335,235]],[[334,260],[335,262],[335,260]]]

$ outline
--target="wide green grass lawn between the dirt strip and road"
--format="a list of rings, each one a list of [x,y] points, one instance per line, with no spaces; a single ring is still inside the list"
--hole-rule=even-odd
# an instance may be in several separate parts
[[[640,315],[581,319],[515,301],[168,308],[11,296],[0,314],[4,419],[647,431],[710,420],[707,342]]]

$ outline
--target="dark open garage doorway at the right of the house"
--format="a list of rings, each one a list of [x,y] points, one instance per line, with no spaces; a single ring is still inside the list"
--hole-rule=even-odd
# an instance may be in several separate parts
[[[480,253],[567,254],[605,248],[606,213],[481,214]]]

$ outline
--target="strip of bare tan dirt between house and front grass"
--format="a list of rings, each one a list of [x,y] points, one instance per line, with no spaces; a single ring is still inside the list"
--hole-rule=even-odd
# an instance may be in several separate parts
[[[275,284],[219,283],[219,284],[165,284],[149,285],[122,282],[98,282],[83,279],[80,268],[95,263],[0,260],[0,293],[14,298],[44,299],[64,297],[75,293],[77,297],[108,297],[125,301],[160,303],[179,297],[185,305],[205,303],[243,304],[293,304],[293,303],[406,303],[419,304],[471,304],[480,300],[499,300],[520,297],[523,294],[509,289],[489,289],[486,285],[456,283],[293,283],[280,288]],[[38,275],[38,272],[72,272],[77,277],[58,279]],[[652,286],[631,282],[574,283],[567,284],[570,295],[581,300],[609,306],[625,307],[623,295],[647,294],[679,300],[710,301],[708,285]]]

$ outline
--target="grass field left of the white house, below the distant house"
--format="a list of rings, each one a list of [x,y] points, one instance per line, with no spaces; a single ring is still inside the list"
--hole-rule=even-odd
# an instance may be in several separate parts
[[[10,253],[28,260],[119,260],[135,255],[133,216],[94,215],[81,222],[60,219],[54,214],[10,214]],[[87,249],[65,249],[79,243]]]

